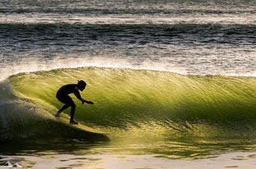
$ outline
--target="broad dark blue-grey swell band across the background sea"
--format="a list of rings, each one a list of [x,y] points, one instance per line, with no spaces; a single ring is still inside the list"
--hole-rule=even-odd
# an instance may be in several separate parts
[[[252,44],[256,36],[254,24],[0,24],[0,34],[13,47],[18,42],[28,42],[33,45],[57,47],[80,47],[86,43],[102,41],[108,45],[117,45],[115,42],[134,45],[149,45],[157,42],[162,45],[170,44],[173,39],[177,42],[194,44],[197,42],[208,44],[234,44],[247,42]],[[45,32],[51,32],[49,36]],[[249,36],[248,36],[249,34]],[[202,38],[203,36],[203,38]],[[118,37],[118,38],[117,38]],[[63,39],[66,39],[63,42]],[[182,39],[182,40],[181,40]],[[193,41],[191,41],[193,39]],[[176,44],[176,42],[174,43]],[[32,45],[32,44],[31,44]]]

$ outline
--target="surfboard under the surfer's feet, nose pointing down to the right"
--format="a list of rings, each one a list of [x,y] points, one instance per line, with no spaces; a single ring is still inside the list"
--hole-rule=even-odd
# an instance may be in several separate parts
[[[65,124],[68,127],[72,127],[72,128],[77,129],[77,130],[80,130],[80,131],[85,131],[85,132],[100,134],[100,135],[106,135],[107,134],[103,131],[98,131],[94,128],[86,127],[85,125],[80,124],[80,123],[79,124],[71,124],[69,119],[66,119],[66,118],[58,117],[58,118],[56,118],[56,120],[57,120],[57,122],[61,122],[62,124]]]

